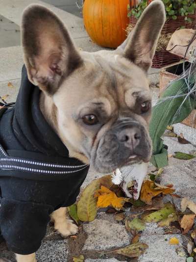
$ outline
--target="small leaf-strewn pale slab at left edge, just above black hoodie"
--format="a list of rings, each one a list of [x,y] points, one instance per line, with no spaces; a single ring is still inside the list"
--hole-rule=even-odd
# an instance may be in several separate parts
[[[13,87],[8,86],[8,81],[0,82],[0,96],[3,97],[8,95],[8,97],[5,99],[5,101],[8,103],[16,101],[21,79],[11,80],[10,83],[13,85]]]

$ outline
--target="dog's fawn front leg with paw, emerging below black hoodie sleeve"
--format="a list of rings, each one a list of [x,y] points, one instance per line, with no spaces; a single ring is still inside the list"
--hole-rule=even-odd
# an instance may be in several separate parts
[[[78,232],[78,228],[73,221],[67,218],[66,208],[55,210],[51,214],[51,221],[54,222],[56,229],[62,237],[74,235]]]

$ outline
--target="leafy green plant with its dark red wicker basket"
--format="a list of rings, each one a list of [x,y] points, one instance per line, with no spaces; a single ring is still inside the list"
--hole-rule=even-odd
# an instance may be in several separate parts
[[[129,9],[130,32],[136,25],[138,18],[152,0],[142,0]],[[196,28],[196,0],[162,0],[166,9],[166,23],[161,31],[157,50],[153,58],[152,67],[160,68],[178,62],[180,58],[166,51],[172,33],[179,28]]]

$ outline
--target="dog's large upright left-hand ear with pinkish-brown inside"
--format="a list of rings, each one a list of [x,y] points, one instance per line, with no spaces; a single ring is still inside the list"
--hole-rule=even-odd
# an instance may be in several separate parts
[[[25,9],[22,44],[28,79],[50,95],[82,63],[67,28],[42,5]]]

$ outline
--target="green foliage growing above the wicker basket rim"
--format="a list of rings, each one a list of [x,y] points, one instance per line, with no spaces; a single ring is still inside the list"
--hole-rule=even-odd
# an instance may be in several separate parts
[[[196,12],[196,0],[162,0],[165,9],[166,17],[168,19],[176,20],[177,16],[184,16],[184,20],[188,23],[192,23],[189,15],[193,15]],[[147,7],[151,0],[142,0],[139,4],[132,8],[128,12],[128,16],[135,16],[137,19],[141,16],[144,9]]]

